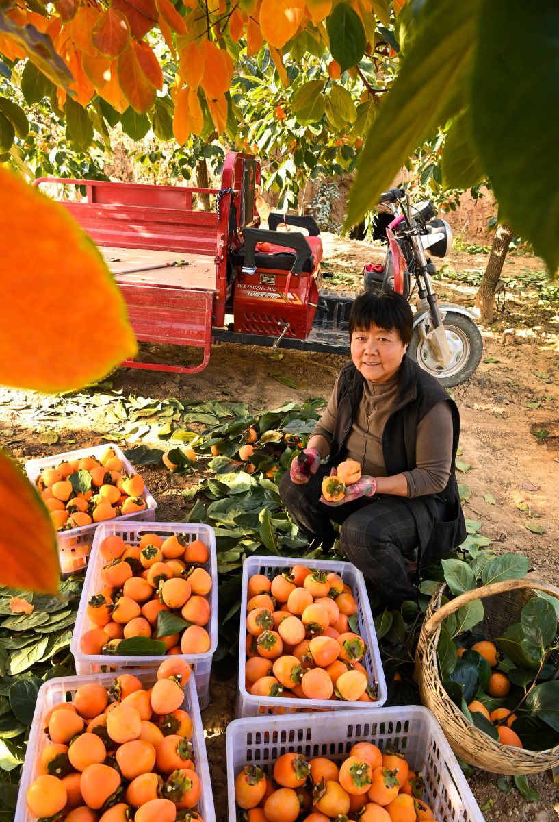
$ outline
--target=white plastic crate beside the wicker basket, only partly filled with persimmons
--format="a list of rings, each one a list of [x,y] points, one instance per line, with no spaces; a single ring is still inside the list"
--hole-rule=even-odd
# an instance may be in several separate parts
[[[433,713],[420,705],[336,713],[287,713],[236,719],[227,726],[229,822],[242,822],[235,802],[235,779],[248,764],[271,776],[273,764],[296,751],[307,760],[324,756],[339,766],[357,742],[388,743],[406,756],[410,768],[423,774],[424,801],[437,822],[483,822],[474,799]]]

